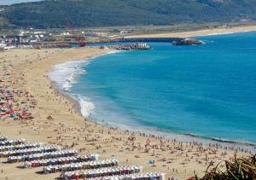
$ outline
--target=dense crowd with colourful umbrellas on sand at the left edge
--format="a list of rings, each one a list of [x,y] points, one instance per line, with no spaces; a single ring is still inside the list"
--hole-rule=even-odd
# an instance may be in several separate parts
[[[17,83],[20,79],[13,79],[11,76],[13,64],[9,61],[1,61],[0,77],[0,120],[10,119],[33,119],[29,109],[37,105],[37,101],[26,90],[20,90]]]

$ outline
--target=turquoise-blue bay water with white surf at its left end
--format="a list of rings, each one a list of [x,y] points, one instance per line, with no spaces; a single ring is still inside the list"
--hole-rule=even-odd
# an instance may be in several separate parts
[[[51,76],[100,122],[256,143],[256,32],[198,38],[206,44],[149,43]]]

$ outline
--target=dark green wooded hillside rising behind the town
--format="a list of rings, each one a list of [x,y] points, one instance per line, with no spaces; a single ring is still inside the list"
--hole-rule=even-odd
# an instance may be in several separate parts
[[[76,27],[256,20],[252,0],[47,0],[0,9],[2,28],[67,27],[66,17]]]

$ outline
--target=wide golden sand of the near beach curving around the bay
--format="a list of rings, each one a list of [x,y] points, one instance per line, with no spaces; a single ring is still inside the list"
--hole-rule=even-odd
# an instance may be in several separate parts
[[[191,177],[194,173],[203,175],[211,161],[215,165],[220,160],[230,160],[234,151],[207,148],[200,144],[176,142],[174,140],[150,137],[148,152],[145,151],[147,136],[135,136],[131,133],[116,131],[85,120],[75,108],[73,101],[53,88],[49,81],[49,72],[53,66],[65,61],[75,61],[111,52],[109,49],[13,49],[1,52],[0,67],[6,68],[9,76],[0,73],[3,84],[10,90],[26,90],[37,102],[28,109],[34,119],[1,120],[0,136],[25,138],[27,142],[57,144],[65,148],[77,149],[80,154],[100,154],[101,159],[117,158],[120,165],[143,165],[144,172],[161,171],[166,177]],[[63,77],[65,78],[65,77]],[[15,97],[20,102],[21,97]],[[48,116],[53,119],[47,119]],[[129,140],[130,139],[130,140]],[[239,153],[239,155],[247,155]],[[0,159],[3,162],[6,159]],[[154,160],[154,165],[149,165]],[[36,173],[42,167],[22,169],[22,163],[0,164],[2,179],[55,179],[60,173],[41,175]]]

